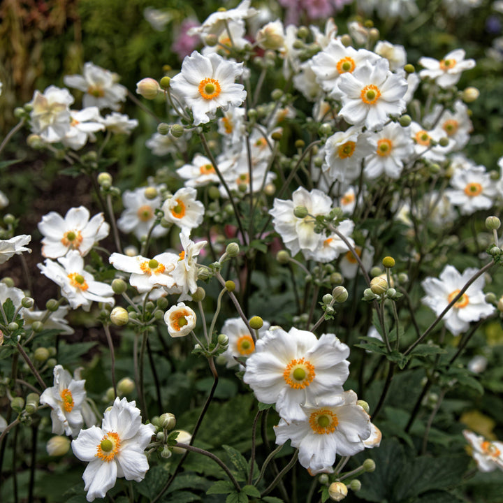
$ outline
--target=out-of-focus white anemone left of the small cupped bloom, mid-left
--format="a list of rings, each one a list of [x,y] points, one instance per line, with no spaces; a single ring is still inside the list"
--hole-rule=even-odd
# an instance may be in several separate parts
[[[161,196],[149,199],[145,196],[145,187],[133,191],[125,190],[122,194],[124,211],[117,219],[117,227],[123,233],[133,233],[139,240],[148,235],[156,220],[156,210],[161,208]],[[152,230],[152,238],[160,238],[168,229],[157,224]]]

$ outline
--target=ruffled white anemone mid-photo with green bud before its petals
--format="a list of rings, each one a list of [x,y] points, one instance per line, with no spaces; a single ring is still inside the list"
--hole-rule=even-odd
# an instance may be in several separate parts
[[[296,207],[305,207],[307,215],[304,218],[296,217]],[[315,251],[322,240],[321,234],[314,232],[316,215],[326,215],[332,209],[332,199],[322,191],[313,189],[308,192],[304,187],[299,187],[292,194],[291,201],[275,198],[272,209],[272,225],[281,236],[285,246],[292,255],[299,251]]]

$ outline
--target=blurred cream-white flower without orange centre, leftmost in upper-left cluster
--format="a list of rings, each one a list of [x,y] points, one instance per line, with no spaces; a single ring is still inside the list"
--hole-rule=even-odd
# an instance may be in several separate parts
[[[68,89],[49,86],[43,94],[35,91],[29,102],[31,131],[48,143],[61,141],[70,131],[70,105],[73,96]]]

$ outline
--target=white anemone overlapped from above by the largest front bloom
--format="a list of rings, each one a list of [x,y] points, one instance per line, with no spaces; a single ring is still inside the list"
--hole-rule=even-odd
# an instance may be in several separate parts
[[[356,404],[354,391],[333,395],[316,407],[302,407],[302,418],[275,426],[276,444],[288,439],[299,449],[300,465],[319,472],[332,467],[336,455],[351,456],[365,450],[372,435],[370,416]]]

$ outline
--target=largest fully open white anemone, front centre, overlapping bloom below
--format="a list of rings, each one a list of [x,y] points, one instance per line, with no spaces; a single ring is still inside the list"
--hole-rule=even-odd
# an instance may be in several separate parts
[[[257,400],[276,404],[285,421],[302,421],[302,405],[316,405],[323,395],[343,392],[348,356],[349,347],[334,334],[317,339],[307,330],[277,327],[256,342],[243,380]]]

